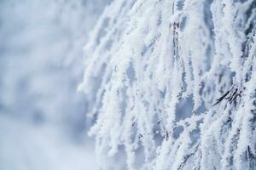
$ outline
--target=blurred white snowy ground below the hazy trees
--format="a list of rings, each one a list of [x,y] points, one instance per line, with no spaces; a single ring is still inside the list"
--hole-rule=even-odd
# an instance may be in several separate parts
[[[93,144],[76,142],[58,129],[1,115],[0,169],[96,169]]]

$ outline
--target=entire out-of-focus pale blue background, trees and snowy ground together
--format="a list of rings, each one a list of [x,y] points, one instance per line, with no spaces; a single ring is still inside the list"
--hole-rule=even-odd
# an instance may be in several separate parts
[[[0,169],[96,169],[83,47],[110,0],[0,0]]]

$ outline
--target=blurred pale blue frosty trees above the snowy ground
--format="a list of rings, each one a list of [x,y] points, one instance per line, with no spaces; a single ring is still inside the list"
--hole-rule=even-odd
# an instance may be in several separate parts
[[[84,132],[83,46],[108,2],[0,2],[3,114]]]

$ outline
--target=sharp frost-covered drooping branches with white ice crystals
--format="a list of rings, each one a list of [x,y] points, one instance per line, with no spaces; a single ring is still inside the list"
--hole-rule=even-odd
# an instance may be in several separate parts
[[[79,86],[99,165],[255,169],[255,20],[254,0],[108,5]]]

